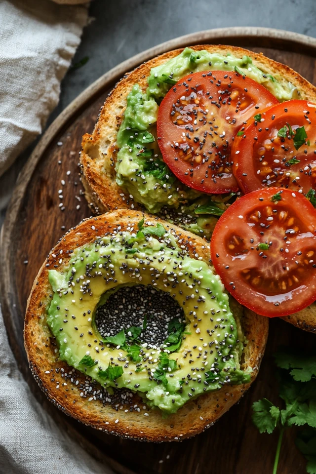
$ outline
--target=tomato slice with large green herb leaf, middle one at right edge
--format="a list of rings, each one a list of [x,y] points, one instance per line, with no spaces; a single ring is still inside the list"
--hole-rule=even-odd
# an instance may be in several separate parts
[[[279,186],[300,193],[316,187],[316,104],[290,100],[241,128],[233,171],[244,193]]]

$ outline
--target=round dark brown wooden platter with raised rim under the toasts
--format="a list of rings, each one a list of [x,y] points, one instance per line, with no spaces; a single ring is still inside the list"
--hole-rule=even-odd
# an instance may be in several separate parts
[[[316,83],[316,40],[265,28],[210,30],[167,41],[118,65],[102,76],[52,123],[22,170],[1,232],[0,294],[9,341],[31,390],[57,423],[84,449],[123,474],[266,474],[272,473],[277,433],[260,435],[251,421],[251,405],[265,396],[279,403],[273,354],[280,345],[312,348],[314,334],[272,319],[259,376],[248,393],[213,427],[182,443],[128,441],[79,424],[41,393],[29,370],[23,346],[23,321],[33,280],[47,253],[65,231],[91,211],[79,176],[81,136],[91,132],[99,109],[115,83],[143,61],[194,44],[232,44],[263,52]],[[62,199],[58,191],[62,190]],[[3,329],[2,329],[3,330]],[[281,474],[305,473],[305,460],[295,447],[295,429],[283,438]]]

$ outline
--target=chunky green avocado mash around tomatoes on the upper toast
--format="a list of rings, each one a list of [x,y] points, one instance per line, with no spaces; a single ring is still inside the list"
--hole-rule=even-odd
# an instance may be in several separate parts
[[[172,84],[191,72],[234,71],[235,67],[266,87],[280,102],[297,97],[297,89],[291,83],[285,86],[277,76],[264,74],[248,56],[237,58],[231,54],[223,56],[185,48],[178,56],[151,70],[146,93],[138,84],[133,86],[127,96],[124,119],[118,131],[118,185],[150,212],[157,213],[167,206],[177,209],[178,214],[189,216],[188,223],[184,221],[183,226],[181,219],[179,225],[206,237],[210,237],[214,227],[212,220],[216,223],[216,219],[204,216],[208,225],[205,222],[204,226],[200,225],[196,216],[192,218],[188,205],[212,203],[214,196],[202,195],[182,184],[162,161],[156,133],[158,105]],[[220,196],[217,195],[216,199],[222,202]]]

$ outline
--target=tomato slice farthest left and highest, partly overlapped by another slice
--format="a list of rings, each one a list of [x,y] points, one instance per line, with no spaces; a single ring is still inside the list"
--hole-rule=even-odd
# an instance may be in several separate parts
[[[237,191],[231,145],[238,129],[278,103],[255,80],[235,72],[191,74],[162,100],[157,121],[162,158],[177,178],[204,193]]]

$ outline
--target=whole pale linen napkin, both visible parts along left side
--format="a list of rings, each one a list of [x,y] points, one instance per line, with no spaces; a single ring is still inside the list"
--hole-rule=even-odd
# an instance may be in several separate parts
[[[0,0],[0,174],[42,131],[86,21],[82,5]],[[0,473],[112,473],[59,429],[32,395],[17,368],[1,311]]]

